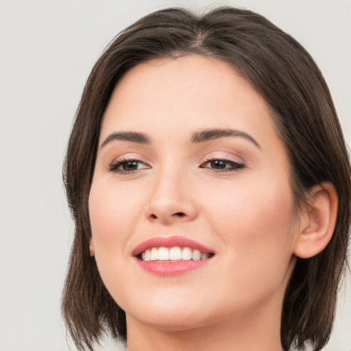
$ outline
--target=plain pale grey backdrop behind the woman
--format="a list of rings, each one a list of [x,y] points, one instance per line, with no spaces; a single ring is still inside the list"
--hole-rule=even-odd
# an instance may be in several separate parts
[[[0,1],[0,351],[69,350],[60,295],[73,223],[62,162],[93,63],[121,29],[149,12],[214,4],[255,10],[308,49],[351,145],[350,0]],[[106,343],[104,350],[118,348]],[[350,273],[325,350],[351,351]]]

